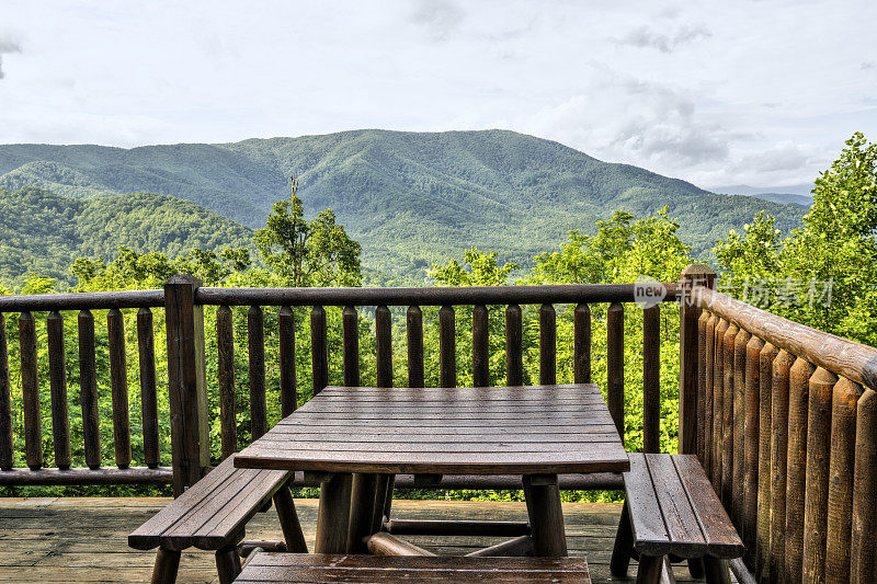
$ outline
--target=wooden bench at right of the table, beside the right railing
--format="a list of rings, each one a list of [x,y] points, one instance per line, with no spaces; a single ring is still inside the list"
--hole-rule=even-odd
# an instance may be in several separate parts
[[[627,501],[615,538],[610,570],[625,576],[634,551],[637,582],[672,582],[669,557],[699,562],[707,582],[729,582],[728,560],[745,548],[694,455],[630,454],[624,473]]]

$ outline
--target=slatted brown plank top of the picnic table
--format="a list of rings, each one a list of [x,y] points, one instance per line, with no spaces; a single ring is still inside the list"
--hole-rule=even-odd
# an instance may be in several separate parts
[[[323,472],[565,474],[629,470],[593,383],[327,387],[235,457]]]

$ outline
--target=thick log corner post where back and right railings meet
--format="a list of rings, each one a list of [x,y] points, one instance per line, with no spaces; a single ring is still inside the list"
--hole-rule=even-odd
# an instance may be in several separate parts
[[[679,328],[679,451],[697,449],[697,321],[701,309],[691,299],[695,286],[713,288],[716,273],[707,265],[692,264],[682,271]]]

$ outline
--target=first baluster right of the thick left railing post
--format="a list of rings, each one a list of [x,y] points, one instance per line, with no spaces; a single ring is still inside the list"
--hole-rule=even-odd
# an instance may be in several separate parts
[[[216,309],[216,377],[219,382],[219,442],[223,460],[238,449],[238,415],[235,390],[235,314]]]

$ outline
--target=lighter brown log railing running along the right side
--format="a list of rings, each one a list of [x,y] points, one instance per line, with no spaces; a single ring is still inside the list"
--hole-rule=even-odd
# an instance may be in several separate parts
[[[708,286],[686,311],[693,444],[747,566],[761,582],[875,582],[877,350]]]

